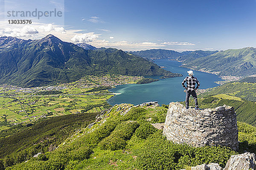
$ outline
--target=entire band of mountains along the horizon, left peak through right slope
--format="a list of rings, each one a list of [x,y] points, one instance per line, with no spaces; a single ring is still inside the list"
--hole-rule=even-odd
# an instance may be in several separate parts
[[[41,40],[0,37],[0,83],[35,87],[72,82],[85,75],[182,76],[160,68],[147,61],[148,58],[175,59],[182,62],[183,67],[219,75],[247,76],[256,73],[256,48],[252,47],[181,53],[152,49],[125,53],[115,48],[63,42],[50,34]]]

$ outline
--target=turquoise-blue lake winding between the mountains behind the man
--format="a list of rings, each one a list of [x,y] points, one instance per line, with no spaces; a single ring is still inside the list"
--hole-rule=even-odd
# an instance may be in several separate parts
[[[131,103],[134,105],[141,104],[143,102],[158,101],[160,105],[169,104],[169,102],[177,102],[185,100],[185,93],[181,82],[188,75],[189,69],[179,67],[181,64],[177,61],[170,61],[168,59],[157,59],[154,60],[159,66],[164,66],[165,70],[173,73],[183,74],[183,77],[174,77],[168,79],[160,79],[157,82],[151,82],[148,84],[136,85],[118,85],[116,88],[112,88],[109,91],[115,93],[121,93],[113,96],[108,100],[111,105],[120,103]],[[215,74],[208,74],[201,71],[194,71],[194,76],[197,77],[201,83],[200,89],[212,88],[218,86],[215,81],[220,81]],[[159,79],[160,76],[151,78]]]

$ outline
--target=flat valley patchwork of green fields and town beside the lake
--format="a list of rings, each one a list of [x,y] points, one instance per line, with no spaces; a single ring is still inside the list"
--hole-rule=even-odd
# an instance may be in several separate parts
[[[0,130],[47,116],[100,112],[110,107],[107,100],[114,94],[109,88],[136,83],[142,78],[105,75],[36,88],[0,85]]]

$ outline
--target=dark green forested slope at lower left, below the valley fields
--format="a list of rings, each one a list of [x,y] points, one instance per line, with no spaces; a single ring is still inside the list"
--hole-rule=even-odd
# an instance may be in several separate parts
[[[76,130],[95,121],[97,113],[79,113],[40,119],[27,126],[1,131],[0,159],[11,166],[41,152],[52,151]]]

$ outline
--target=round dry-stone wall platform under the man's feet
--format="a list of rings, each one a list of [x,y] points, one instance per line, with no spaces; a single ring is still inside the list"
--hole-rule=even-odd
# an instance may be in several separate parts
[[[186,109],[179,102],[171,102],[163,134],[178,144],[194,147],[220,145],[238,150],[236,113],[233,107],[226,105],[197,111]]]

